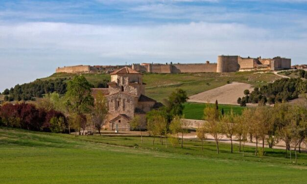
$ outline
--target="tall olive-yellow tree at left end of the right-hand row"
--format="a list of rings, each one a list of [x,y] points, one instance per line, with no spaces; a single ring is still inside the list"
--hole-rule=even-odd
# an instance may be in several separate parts
[[[219,111],[216,108],[216,106],[207,106],[204,109],[204,117],[206,122],[206,132],[208,132],[215,141],[216,144],[216,153],[219,153],[219,148],[218,148],[218,142],[219,139],[222,138],[222,129],[221,129],[221,123],[219,121]]]

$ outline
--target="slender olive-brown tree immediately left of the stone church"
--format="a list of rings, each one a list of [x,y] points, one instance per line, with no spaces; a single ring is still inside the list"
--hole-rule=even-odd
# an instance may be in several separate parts
[[[101,136],[100,131],[101,131],[101,128],[105,124],[107,115],[108,115],[107,99],[105,98],[102,92],[98,92],[95,97],[94,107],[92,109],[90,117],[91,117],[93,126],[98,130],[98,133],[100,136]]]

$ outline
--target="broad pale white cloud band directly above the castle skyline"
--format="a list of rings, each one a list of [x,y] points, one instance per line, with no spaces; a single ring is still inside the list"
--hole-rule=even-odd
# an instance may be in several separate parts
[[[283,32],[283,30],[280,30]],[[290,32],[291,33],[291,32]],[[91,25],[72,23],[0,24],[0,91],[29,82],[56,67],[140,62],[216,62],[217,55],[292,58],[306,63],[307,38],[278,37],[274,30],[239,23]],[[23,70],[23,77],[17,72]]]

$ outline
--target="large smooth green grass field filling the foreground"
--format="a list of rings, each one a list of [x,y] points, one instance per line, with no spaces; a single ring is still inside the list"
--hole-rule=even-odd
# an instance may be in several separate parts
[[[235,146],[185,140],[184,148],[161,145],[156,139],[79,136],[0,129],[1,184],[305,184],[307,154],[290,164],[283,150],[266,149],[253,156],[247,147],[243,158]]]

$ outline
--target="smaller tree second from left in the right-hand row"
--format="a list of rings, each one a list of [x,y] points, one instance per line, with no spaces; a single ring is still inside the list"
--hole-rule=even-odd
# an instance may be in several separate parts
[[[230,114],[223,115],[221,117],[222,132],[227,138],[230,138],[231,142],[231,153],[233,153],[233,136],[236,132],[235,115],[233,110]]]

